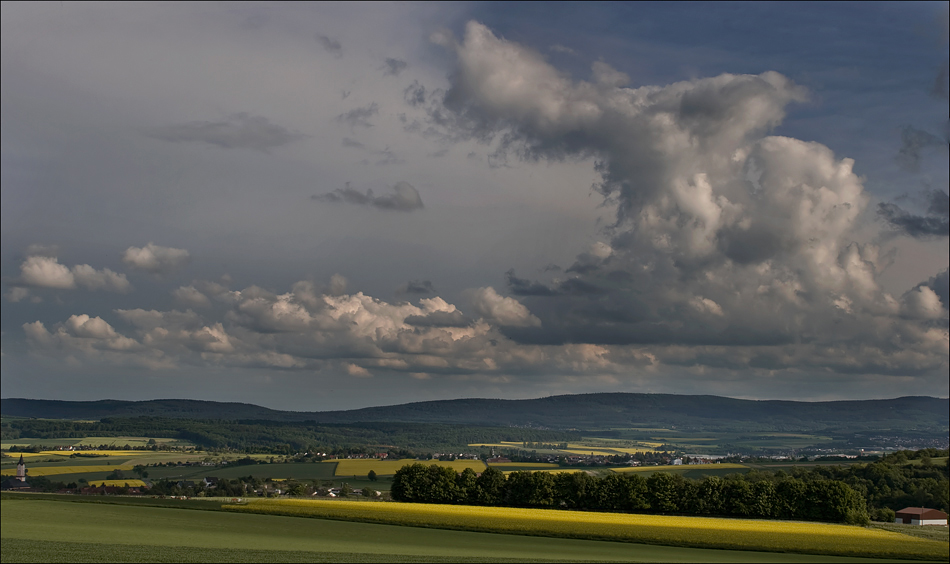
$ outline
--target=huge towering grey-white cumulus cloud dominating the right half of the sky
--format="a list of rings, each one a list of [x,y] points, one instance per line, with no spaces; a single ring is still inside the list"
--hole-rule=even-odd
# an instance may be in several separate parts
[[[946,330],[901,317],[900,300],[877,282],[887,261],[854,241],[868,196],[853,161],[769,135],[790,104],[807,100],[788,78],[627,88],[605,62],[575,81],[477,22],[462,41],[440,44],[457,57],[441,104],[421,86],[407,91],[429,127],[487,138],[496,154],[527,161],[593,158],[595,189],[615,210],[609,239],[565,271],[507,273],[521,315],[503,322],[491,306],[501,296],[479,296],[475,312],[506,337],[611,354],[649,347],[658,362],[735,369],[789,368],[816,347],[837,351],[815,361],[831,370],[946,364]]]

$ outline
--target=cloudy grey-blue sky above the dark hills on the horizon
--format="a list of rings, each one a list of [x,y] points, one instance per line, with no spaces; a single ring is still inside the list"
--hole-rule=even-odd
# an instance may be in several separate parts
[[[3,397],[950,395],[947,2],[0,27]]]

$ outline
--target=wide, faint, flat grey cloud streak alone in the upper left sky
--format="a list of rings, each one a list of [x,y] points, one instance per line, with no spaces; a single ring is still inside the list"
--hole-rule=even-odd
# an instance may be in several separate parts
[[[222,149],[253,149],[265,153],[306,137],[273,124],[265,117],[246,113],[231,114],[220,121],[192,121],[154,127],[147,130],[146,134],[171,143],[208,143]]]

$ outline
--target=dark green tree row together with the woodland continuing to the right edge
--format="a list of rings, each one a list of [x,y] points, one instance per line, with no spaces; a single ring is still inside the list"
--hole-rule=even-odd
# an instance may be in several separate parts
[[[865,524],[889,521],[905,506],[947,511],[950,463],[926,449],[888,455],[871,464],[752,471],[691,480],[658,472],[648,478],[612,473],[512,472],[412,464],[393,478],[392,498],[416,503],[630,511],[724,517],[800,519]]]

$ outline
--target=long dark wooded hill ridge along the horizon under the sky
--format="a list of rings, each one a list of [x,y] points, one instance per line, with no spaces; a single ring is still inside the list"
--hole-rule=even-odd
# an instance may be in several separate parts
[[[950,427],[950,400],[932,397],[798,402],[605,393],[532,400],[440,400],[323,412],[279,411],[246,403],[175,399],[83,402],[8,398],[0,400],[0,412],[6,417],[44,419],[99,420],[148,416],[317,423],[460,423],[551,429],[675,425],[710,431],[725,428],[774,431],[836,428],[943,432]]]

